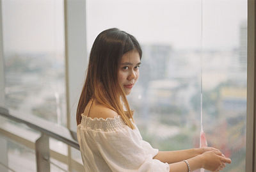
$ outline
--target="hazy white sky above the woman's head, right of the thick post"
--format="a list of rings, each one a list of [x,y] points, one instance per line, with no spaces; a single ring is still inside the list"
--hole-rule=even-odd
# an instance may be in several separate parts
[[[207,49],[233,48],[247,19],[244,0],[88,0],[86,10],[89,47],[100,31],[119,27],[141,43],[195,49],[202,38]]]

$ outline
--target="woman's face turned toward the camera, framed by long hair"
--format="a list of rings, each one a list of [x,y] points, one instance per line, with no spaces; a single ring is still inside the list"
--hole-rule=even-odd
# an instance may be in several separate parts
[[[125,95],[131,93],[132,87],[136,83],[140,71],[140,54],[138,51],[126,52],[118,64],[118,82],[125,91]]]

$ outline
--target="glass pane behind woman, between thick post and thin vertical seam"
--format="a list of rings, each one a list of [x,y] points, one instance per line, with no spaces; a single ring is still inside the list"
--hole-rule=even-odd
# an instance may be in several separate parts
[[[143,139],[159,150],[195,146],[200,113],[191,98],[200,91],[200,1],[87,3],[88,50],[109,27],[131,33],[141,44],[140,78],[128,98]]]

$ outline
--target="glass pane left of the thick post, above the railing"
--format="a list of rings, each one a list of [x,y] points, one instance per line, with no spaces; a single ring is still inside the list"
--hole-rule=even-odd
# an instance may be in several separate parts
[[[6,107],[66,125],[63,1],[2,1]]]

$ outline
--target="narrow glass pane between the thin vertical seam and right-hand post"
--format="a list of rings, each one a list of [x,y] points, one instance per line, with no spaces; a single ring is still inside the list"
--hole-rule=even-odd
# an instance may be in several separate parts
[[[204,1],[203,7],[206,137],[232,159],[223,171],[245,171],[247,1]]]

